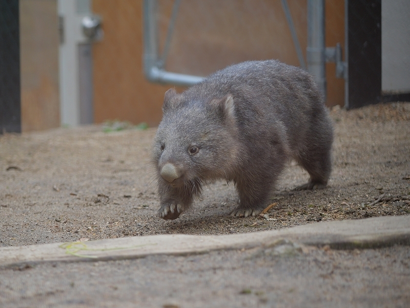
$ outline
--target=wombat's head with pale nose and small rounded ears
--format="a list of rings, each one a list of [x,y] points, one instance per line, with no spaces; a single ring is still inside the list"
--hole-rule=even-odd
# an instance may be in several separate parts
[[[234,98],[165,93],[154,141],[158,179],[173,187],[228,178],[238,151]]]

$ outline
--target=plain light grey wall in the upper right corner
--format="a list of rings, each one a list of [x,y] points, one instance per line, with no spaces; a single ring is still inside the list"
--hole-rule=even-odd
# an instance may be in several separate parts
[[[410,92],[410,1],[381,2],[381,87],[384,93]]]

